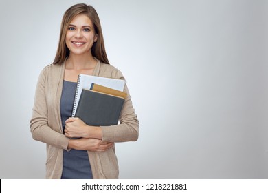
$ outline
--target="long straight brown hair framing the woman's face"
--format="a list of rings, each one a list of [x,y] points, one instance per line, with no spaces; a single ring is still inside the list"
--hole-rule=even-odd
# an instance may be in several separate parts
[[[78,14],[87,15],[87,17],[89,17],[89,19],[93,23],[96,34],[98,34],[98,39],[95,43],[93,43],[93,46],[91,48],[92,56],[96,57],[96,59],[99,59],[103,63],[109,64],[109,60],[105,52],[102,27],[100,26],[100,19],[98,17],[98,13],[92,6],[87,6],[85,3],[80,3],[71,6],[69,9],[66,10],[65,14],[63,15],[63,21],[61,22],[60,26],[60,40],[58,42],[58,50],[56,52],[56,57],[53,63],[63,63],[63,61],[65,61],[65,58],[69,56],[70,50],[69,48],[67,48],[67,45],[65,43],[65,37],[69,24]]]

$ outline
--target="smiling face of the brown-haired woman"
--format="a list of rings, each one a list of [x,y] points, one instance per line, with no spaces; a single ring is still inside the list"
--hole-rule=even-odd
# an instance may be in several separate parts
[[[94,41],[97,41],[97,34],[95,34],[92,21],[85,14],[79,14],[67,28],[65,43],[70,54],[91,53]]]

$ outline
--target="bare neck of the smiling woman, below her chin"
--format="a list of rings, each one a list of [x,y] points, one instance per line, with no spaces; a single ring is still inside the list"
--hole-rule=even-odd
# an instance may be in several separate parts
[[[66,67],[74,70],[95,68],[96,64],[97,61],[91,54],[76,55],[70,53],[66,61]]]

